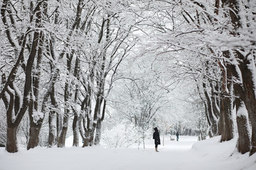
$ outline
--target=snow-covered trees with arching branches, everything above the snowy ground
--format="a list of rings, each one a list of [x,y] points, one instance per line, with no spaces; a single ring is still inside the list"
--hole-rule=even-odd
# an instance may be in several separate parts
[[[238,135],[256,152],[255,0],[1,0],[0,145]]]

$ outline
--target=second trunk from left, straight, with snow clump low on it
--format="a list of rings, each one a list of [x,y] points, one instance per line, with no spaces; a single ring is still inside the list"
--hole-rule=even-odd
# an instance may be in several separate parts
[[[36,28],[43,28],[43,16],[47,15],[48,4],[47,1],[41,2],[38,0],[36,6]],[[44,115],[41,115],[39,105],[39,90],[41,80],[41,64],[43,60],[43,44],[44,44],[44,33],[41,30],[36,30],[33,37],[33,43],[31,47],[31,55],[37,56],[36,72],[33,74],[33,89],[31,91],[31,101],[28,106],[28,114],[30,119],[30,130],[27,149],[37,147],[39,144],[39,133],[43,123]],[[34,99],[33,99],[34,98]]]

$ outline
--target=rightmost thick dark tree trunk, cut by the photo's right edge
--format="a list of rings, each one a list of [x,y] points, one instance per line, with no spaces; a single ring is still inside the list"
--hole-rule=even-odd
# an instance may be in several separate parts
[[[242,23],[244,23],[244,13],[240,15],[240,7],[241,4],[239,1],[235,0],[222,0],[223,5],[228,7],[229,11],[229,17],[231,20],[231,23],[233,24],[233,30],[230,31],[231,35],[234,35],[234,37],[240,37],[240,33],[237,33],[237,30],[239,28],[242,28]],[[246,15],[245,15],[246,16]],[[247,25],[247,27],[249,27]],[[245,26],[246,27],[246,26]],[[250,28],[245,28],[250,29]],[[250,48],[250,47],[249,47]],[[251,49],[252,50],[252,49]],[[245,103],[247,113],[250,119],[250,123],[252,125],[252,138],[251,138],[251,149],[250,149],[250,155],[254,154],[256,152],[256,94],[255,94],[255,61],[254,57],[250,52],[247,52],[247,55],[242,55],[240,53],[245,53],[245,50],[239,49],[236,50],[236,54],[239,58],[239,68],[242,74],[242,86],[245,91],[245,96],[243,98],[243,101]]]

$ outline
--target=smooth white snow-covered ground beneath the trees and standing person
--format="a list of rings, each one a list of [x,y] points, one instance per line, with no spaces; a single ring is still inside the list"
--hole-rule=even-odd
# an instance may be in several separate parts
[[[180,136],[180,141],[165,137],[160,152],[154,141],[146,141],[146,149],[138,147],[109,149],[102,147],[21,148],[10,154],[0,148],[0,170],[255,170],[256,154],[239,154],[236,140],[219,143],[220,137],[197,142],[196,137]],[[69,141],[69,140],[68,140]],[[163,144],[163,140],[161,141]],[[70,142],[67,142],[70,146]],[[232,156],[231,156],[232,155]]]

